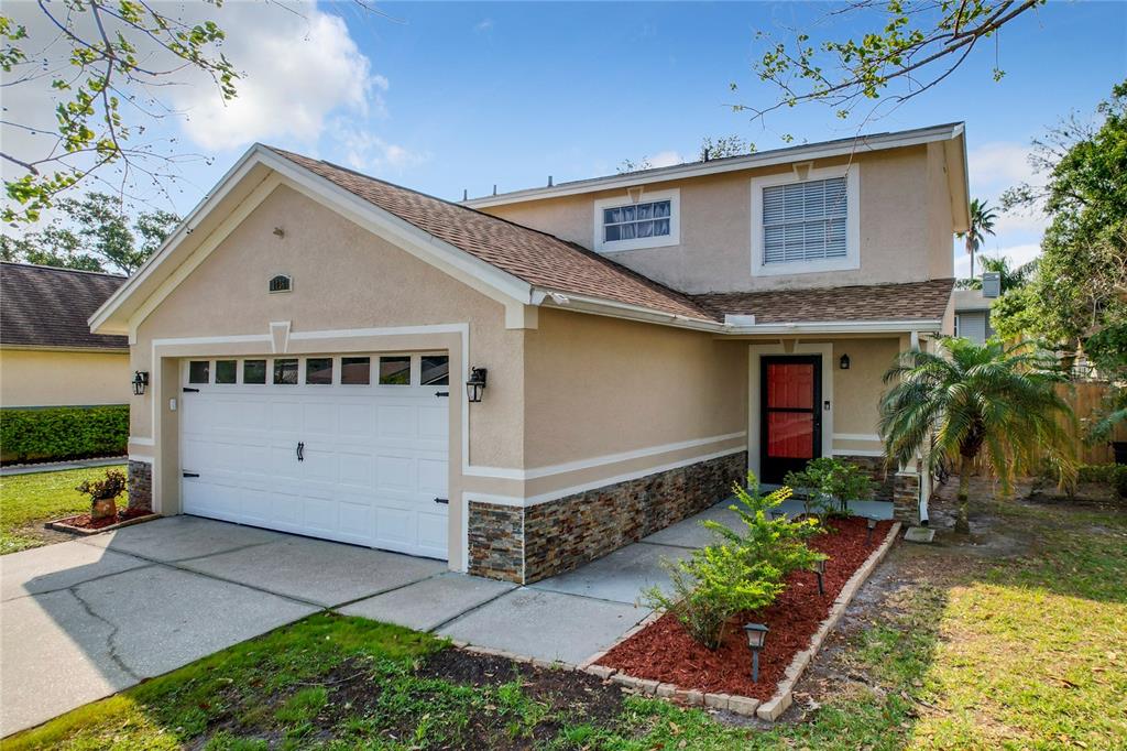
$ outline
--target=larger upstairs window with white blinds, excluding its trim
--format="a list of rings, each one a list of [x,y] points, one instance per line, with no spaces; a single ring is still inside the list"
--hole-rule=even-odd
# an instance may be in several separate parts
[[[845,178],[763,188],[763,264],[845,258]]]

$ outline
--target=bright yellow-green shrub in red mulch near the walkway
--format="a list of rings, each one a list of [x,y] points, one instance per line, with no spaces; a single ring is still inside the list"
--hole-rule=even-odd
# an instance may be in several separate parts
[[[657,586],[644,593],[647,604],[672,612],[693,639],[710,650],[722,644],[734,616],[771,604],[786,587],[783,580],[790,572],[810,568],[825,557],[805,542],[820,531],[816,520],[770,516],[772,509],[790,497],[790,488],[764,496],[755,475],[748,472],[747,479],[747,489],[736,486],[739,505],[731,506],[745,531],[701,522],[724,541],[694,550],[685,560],[664,563],[672,594]]]

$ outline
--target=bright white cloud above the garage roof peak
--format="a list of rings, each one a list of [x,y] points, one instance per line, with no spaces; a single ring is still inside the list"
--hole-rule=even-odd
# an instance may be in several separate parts
[[[171,92],[187,114],[185,132],[202,148],[312,144],[336,111],[383,113],[388,79],[372,73],[344,20],[316,3],[227,3],[216,20],[228,32],[224,54],[241,73],[238,96],[224,103],[204,80]]]

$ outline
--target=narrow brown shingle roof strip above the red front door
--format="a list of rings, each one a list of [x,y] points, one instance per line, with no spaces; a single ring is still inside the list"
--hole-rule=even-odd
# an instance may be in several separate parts
[[[848,320],[934,320],[943,317],[953,279],[813,290],[771,290],[693,295],[720,320],[755,316],[756,324]]]

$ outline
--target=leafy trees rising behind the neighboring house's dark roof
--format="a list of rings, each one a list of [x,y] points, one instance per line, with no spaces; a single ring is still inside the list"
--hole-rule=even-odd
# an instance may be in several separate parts
[[[132,274],[180,221],[167,211],[142,211],[131,226],[116,196],[105,193],[62,198],[56,207],[59,215],[36,231],[0,236],[0,258]]]

